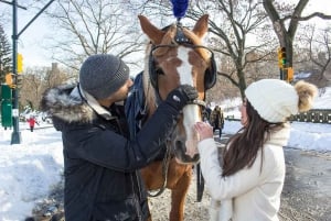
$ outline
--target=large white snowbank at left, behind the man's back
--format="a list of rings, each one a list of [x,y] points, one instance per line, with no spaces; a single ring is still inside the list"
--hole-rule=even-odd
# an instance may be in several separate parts
[[[13,145],[12,130],[0,130],[1,221],[21,221],[30,216],[34,203],[61,180],[63,170],[61,133],[54,128],[30,132],[28,123],[21,128],[22,142]]]

